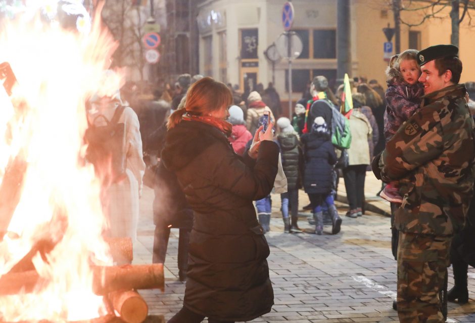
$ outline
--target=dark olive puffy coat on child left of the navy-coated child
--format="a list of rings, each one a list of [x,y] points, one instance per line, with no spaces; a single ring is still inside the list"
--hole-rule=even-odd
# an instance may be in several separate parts
[[[287,188],[298,189],[301,187],[301,149],[299,138],[296,134],[287,133],[278,135],[277,141],[282,156],[282,169],[287,177]]]

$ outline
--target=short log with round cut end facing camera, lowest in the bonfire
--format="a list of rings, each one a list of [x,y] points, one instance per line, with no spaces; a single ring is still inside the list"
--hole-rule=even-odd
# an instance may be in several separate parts
[[[109,300],[126,323],[141,323],[149,313],[147,302],[133,290],[113,291],[109,293]]]

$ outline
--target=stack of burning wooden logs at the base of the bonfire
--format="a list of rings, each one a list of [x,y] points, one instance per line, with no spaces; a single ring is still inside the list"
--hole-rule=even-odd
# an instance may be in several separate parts
[[[130,238],[107,239],[114,260],[132,261],[132,242]],[[2,295],[40,292],[48,281],[40,277],[31,264],[31,255],[22,259],[17,270],[0,276],[0,301]],[[31,264],[31,265],[30,265]],[[21,269],[27,269],[20,271]],[[163,316],[148,315],[146,301],[136,292],[138,289],[164,288],[163,264],[91,266],[92,291],[104,296],[109,314],[90,320],[98,323],[162,323]],[[1,313],[0,313],[1,317]],[[80,322],[76,322],[80,323]]]

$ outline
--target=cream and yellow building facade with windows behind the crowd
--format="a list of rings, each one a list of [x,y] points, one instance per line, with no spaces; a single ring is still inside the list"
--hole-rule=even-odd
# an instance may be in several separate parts
[[[284,0],[204,0],[196,8],[198,23],[199,71],[224,83],[239,85],[241,91],[275,80],[281,98],[288,97],[289,63],[272,64],[264,51],[284,31]],[[292,98],[301,97],[313,76],[325,75],[331,85],[337,74],[337,1],[293,0],[292,30],[302,39],[300,56],[292,61]],[[439,14],[444,19],[428,19],[409,28],[401,25],[401,50],[422,49],[450,43],[450,8]],[[402,12],[404,21],[416,24],[422,11]],[[394,27],[393,12],[385,0],[350,0],[351,75],[376,79],[385,84],[383,28]],[[461,82],[472,80],[475,62],[469,61],[469,39],[474,30],[462,22],[460,58],[464,63]],[[393,39],[394,41],[394,39]],[[464,43],[465,42],[465,43]],[[466,44],[464,46],[464,44]],[[194,53],[192,53],[193,55]],[[391,53],[394,54],[394,53]],[[196,55],[196,54],[195,54]],[[387,54],[388,55],[388,54]],[[465,59],[464,59],[465,58]]]

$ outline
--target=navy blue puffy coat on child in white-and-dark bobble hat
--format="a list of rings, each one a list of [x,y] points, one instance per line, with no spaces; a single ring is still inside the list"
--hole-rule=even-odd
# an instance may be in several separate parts
[[[311,133],[301,137],[305,145],[304,189],[306,193],[329,193],[331,171],[337,163],[335,148],[328,134]]]

